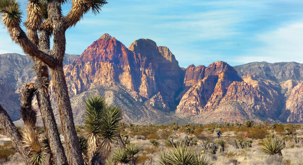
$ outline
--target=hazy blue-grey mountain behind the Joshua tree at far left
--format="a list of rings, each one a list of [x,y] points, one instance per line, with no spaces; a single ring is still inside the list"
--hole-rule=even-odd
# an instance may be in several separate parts
[[[71,63],[77,57],[75,54],[66,54],[63,65]],[[0,54],[0,104],[13,121],[21,117],[18,89],[23,82],[29,82],[35,77],[32,66],[33,62],[28,56],[17,53]]]

